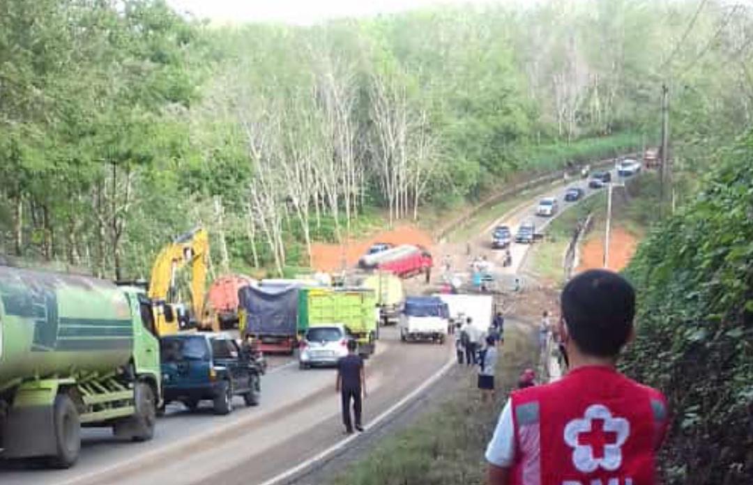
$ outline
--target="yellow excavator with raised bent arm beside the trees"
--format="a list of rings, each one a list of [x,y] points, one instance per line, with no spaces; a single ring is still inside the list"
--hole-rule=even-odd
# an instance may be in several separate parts
[[[202,318],[208,256],[209,236],[202,227],[178,236],[157,255],[151,268],[148,291],[157,335],[176,334],[192,326],[186,307],[176,301],[178,291],[175,276],[186,265],[191,270],[192,316],[197,320]]]

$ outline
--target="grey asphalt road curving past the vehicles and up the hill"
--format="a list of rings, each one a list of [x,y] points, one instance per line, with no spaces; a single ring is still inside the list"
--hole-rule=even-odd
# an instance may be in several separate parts
[[[533,220],[538,231],[544,230],[551,218],[535,216],[538,199],[556,197],[562,213],[573,205],[564,202],[563,194],[575,185],[586,190],[585,197],[596,192],[587,188],[586,180],[541,191],[474,239],[474,251],[488,255],[501,281],[514,279],[529,245],[513,243],[513,264],[502,268],[504,251],[492,251],[489,244],[493,227],[508,224],[515,233],[521,222]],[[395,328],[384,328],[381,337],[377,354],[367,361],[367,426],[373,416],[436,374],[454,353],[450,343],[401,343]],[[157,423],[154,440],[146,443],[117,440],[109,429],[84,429],[81,457],[74,468],[47,470],[34,461],[0,462],[0,483],[264,483],[343,439],[334,377],[332,369],[300,371],[296,361],[272,358],[258,407],[244,407],[242,399],[236,398],[232,414],[215,416],[209,403],[196,413],[174,404]]]

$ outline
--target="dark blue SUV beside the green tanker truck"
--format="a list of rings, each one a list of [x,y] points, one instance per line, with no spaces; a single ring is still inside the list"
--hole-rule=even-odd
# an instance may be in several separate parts
[[[233,397],[256,406],[261,395],[261,367],[252,352],[225,334],[178,334],[160,339],[165,404],[179,401],[196,410],[212,401],[215,413],[233,410]]]

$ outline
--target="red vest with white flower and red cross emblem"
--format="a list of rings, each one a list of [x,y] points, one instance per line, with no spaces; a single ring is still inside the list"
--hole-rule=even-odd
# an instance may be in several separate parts
[[[666,401],[606,367],[512,394],[516,485],[654,485]]]

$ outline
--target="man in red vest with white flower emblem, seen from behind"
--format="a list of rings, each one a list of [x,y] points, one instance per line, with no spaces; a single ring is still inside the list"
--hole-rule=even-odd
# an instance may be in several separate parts
[[[633,337],[636,294],[605,270],[562,291],[569,372],[514,391],[486,449],[490,485],[654,485],[667,425],[661,392],[615,369]]]

